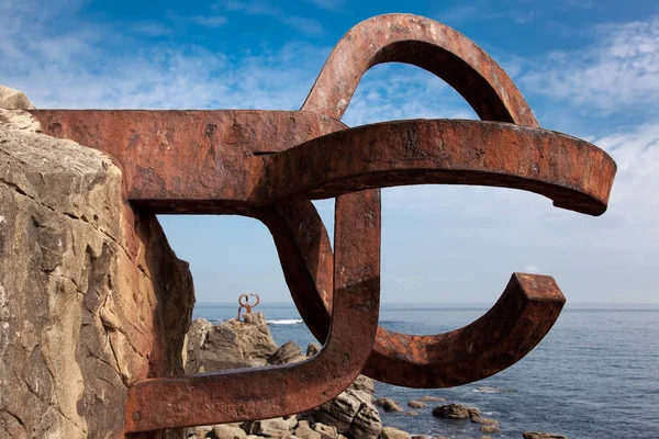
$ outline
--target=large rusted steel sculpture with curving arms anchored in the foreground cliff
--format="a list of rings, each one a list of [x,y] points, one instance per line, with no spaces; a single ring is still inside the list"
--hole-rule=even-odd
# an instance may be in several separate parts
[[[391,61],[444,79],[482,121],[348,128],[340,117],[361,76]],[[442,387],[510,367],[556,322],[565,297],[554,279],[514,273],[484,316],[447,334],[378,328],[379,188],[515,188],[558,207],[601,215],[616,170],[594,145],[541,130],[509,76],[474,43],[409,14],[376,16],[351,29],[300,111],[32,114],[47,134],[113,156],[136,209],[238,214],[265,223],[295,305],[324,342],[321,354],[292,365],[139,382],[129,394],[127,432],[302,412],[336,396],[360,372],[398,385]],[[334,254],[311,203],[331,196],[336,196]]]

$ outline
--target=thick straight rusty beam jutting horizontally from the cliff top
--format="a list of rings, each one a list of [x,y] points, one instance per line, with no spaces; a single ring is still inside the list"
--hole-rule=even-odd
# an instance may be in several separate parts
[[[300,111],[30,112],[46,134],[114,157],[124,171],[127,198],[158,213],[249,213],[259,204],[252,192],[268,154],[346,128]]]

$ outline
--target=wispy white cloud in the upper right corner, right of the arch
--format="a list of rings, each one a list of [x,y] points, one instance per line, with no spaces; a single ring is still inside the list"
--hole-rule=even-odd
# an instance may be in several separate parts
[[[659,18],[596,27],[597,43],[555,52],[522,77],[534,93],[611,114],[656,109]]]

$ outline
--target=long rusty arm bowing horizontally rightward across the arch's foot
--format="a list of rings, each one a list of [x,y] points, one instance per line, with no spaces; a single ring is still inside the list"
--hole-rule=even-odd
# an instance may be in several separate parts
[[[608,154],[560,133],[495,122],[396,121],[345,130],[273,155],[260,199],[470,184],[527,190],[557,206],[601,215],[614,173]]]

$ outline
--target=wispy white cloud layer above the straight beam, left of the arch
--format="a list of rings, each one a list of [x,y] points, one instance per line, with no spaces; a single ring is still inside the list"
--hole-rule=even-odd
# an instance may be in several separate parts
[[[232,60],[196,46],[143,45],[111,24],[60,27],[53,10],[38,20],[29,10],[0,14],[0,83],[37,108],[295,109],[328,53],[289,44]]]

